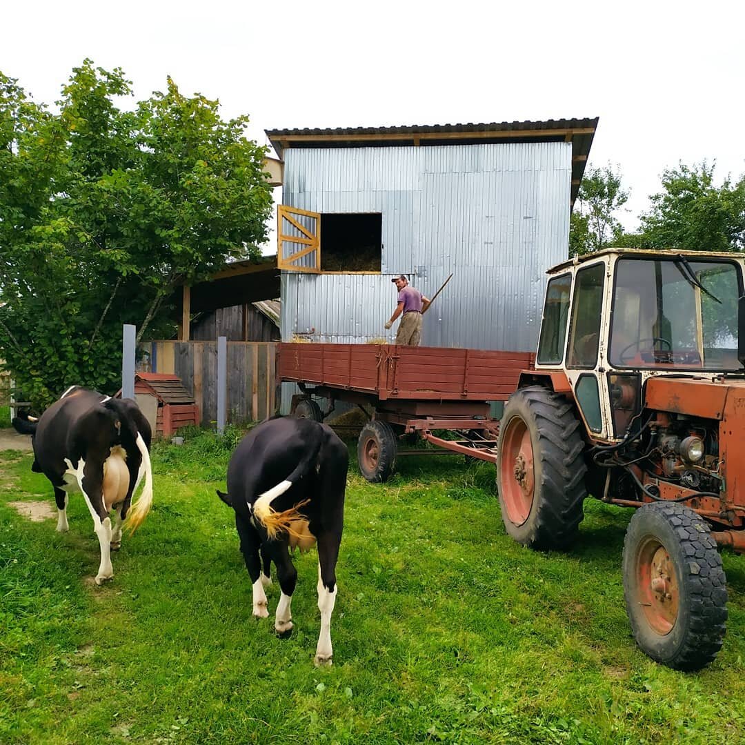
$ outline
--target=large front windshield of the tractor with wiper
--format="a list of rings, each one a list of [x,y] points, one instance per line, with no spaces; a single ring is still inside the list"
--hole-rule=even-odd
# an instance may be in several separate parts
[[[619,259],[609,339],[614,367],[740,370],[733,261]]]

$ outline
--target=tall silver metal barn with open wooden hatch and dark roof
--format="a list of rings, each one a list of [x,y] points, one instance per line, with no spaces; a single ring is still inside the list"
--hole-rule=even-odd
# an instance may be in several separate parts
[[[393,341],[393,276],[432,297],[427,346],[532,351],[545,270],[597,118],[267,130],[282,160],[282,339]]]

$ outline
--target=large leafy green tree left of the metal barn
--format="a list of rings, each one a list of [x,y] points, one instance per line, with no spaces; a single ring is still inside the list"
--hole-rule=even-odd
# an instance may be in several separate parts
[[[121,325],[173,328],[180,282],[256,256],[271,188],[247,116],[168,78],[131,95],[121,69],[73,69],[52,114],[0,73],[0,358],[37,405],[78,383],[110,393]]]

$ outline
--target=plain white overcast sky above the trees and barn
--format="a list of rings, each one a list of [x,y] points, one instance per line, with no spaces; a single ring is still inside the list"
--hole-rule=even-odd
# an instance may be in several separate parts
[[[738,0],[437,3],[336,0],[4,4],[0,71],[52,103],[85,57],[134,99],[217,98],[264,129],[599,116],[590,165],[618,164],[628,229],[664,168],[745,173]],[[276,194],[279,198],[279,194]]]

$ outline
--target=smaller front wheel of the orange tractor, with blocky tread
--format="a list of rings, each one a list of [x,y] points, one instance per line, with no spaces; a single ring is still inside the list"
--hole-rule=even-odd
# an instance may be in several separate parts
[[[669,668],[694,671],[722,647],[727,588],[706,522],[681,504],[640,507],[624,541],[624,597],[636,643]]]

